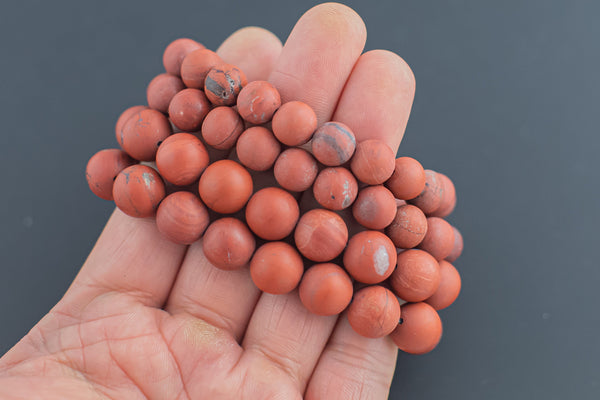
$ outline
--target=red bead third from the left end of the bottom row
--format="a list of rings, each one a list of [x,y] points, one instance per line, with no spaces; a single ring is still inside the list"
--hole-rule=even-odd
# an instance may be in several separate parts
[[[186,191],[171,193],[156,211],[156,227],[174,243],[194,243],[202,237],[209,222],[204,204],[198,196]]]

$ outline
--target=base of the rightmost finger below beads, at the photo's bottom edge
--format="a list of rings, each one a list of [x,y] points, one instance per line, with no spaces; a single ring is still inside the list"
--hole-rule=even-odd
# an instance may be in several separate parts
[[[343,315],[308,384],[304,398],[387,399],[398,348],[389,337],[364,338]]]

